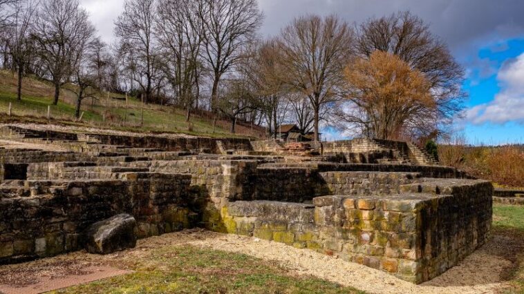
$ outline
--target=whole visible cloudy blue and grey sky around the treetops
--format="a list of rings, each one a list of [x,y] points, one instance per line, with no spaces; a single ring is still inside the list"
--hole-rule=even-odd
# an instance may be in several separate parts
[[[471,144],[524,144],[523,0],[258,0],[260,34],[277,35],[294,17],[337,14],[349,23],[411,10],[447,43],[465,68],[465,116],[455,128]],[[124,0],[80,0],[102,39],[113,42],[113,22]],[[328,139],[344,135],[324,130]]]

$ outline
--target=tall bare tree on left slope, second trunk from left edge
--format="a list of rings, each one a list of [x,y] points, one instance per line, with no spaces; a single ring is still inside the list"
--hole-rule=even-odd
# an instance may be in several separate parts
[[[57,105],[60,87],[71,77],[75,50],[88,23],[86,10],[78,0],[44,0],[35,22],[32,37],[37,43],[39,58],[55,85],[53,105]]]

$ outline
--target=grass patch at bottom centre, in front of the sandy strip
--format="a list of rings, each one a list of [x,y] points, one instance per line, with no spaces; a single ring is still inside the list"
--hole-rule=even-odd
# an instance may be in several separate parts
[[[249,255],[167,246],[135,260],[135,273],[55,293],[363,293]]]

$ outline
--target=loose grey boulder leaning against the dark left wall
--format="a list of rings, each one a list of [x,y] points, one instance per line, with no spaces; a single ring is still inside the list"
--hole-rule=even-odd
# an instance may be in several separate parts
[[[95,222],[84,233],[89,253],[109,254],[136,245],[135,218],[120,214]]]

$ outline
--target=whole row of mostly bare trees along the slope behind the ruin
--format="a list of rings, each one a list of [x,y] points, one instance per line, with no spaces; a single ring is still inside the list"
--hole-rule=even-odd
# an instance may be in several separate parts
[[[78,0],[0,0],[3,68],[82,100],[102,91],[265,126],[321,126],[381,139],[431,139],[460,115],[464,70],[422,19],[397,12],[352,25],[297,17],[260,37],[256,0],[126,0],[113,43]]]

